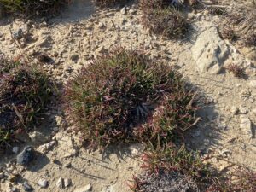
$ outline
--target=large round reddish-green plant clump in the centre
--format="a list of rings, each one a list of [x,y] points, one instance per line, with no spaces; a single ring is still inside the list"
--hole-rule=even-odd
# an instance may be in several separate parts
[[[97,147],[164,142],[195,124],[194,96],[171,66],[118,49],[67,83],[67,119]]]

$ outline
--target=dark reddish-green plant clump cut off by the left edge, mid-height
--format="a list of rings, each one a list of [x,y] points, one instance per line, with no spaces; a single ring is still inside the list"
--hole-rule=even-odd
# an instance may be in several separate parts
[[[29,131],[52,93],[49,77],[38,67],[0,58],[0,148]]]

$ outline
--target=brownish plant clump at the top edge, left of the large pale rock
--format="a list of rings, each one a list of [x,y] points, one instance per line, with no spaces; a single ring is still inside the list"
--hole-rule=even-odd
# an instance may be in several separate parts
[[[184,38],[185,34],[189,31],[189,23],[172,6],[171,2],[164,0],[141,0],[139,7],[143,12],[143,25],[148,27],[150,32],[167,38]]]

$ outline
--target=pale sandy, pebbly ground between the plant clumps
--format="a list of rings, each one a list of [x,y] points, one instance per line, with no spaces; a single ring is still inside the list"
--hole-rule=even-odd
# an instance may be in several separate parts
[[[243,64],[247,68],[247,79],[237,79],[225,71],[219,74],[201,73],[196,70],[192,57],[191,48],[197,36],[209,26],[216,26],[218,16],[207,13],[195,15],[196,19],[192,20],[194,30],[189,33],[189,38],[176,42],[156,37],[143,28],[135,5],[130,6],[124,14],[120,9],[96,11],[89,1],[75,2],[62,16],[48,22],[3,22],[0,26],[1,52],[12,57],[32,55],[35,51],[49,55],[55,62],[44,67],[56,81],[63,84],[93,57],[118,46],[141,49],[154,58],[175,64],[201,96],[201,122],[190,131],[188,148],[210,155],[213,165],[221,171],[237,165],[255,170],[256,87],[253,82],[256,73],[255,61],[250,60],[252,51],[239,46],[235,48],[226,42],[247,61]],[[26,38],[15,44],[10,32],[19,28],[25,32]],[[234,60],[236,57],[230,56],[226,64]],[[44,137],[48,138],[48,142],[43,143],[54,141],[54,144],[45,149],[45,144],[32,143],[42,156],[35,160],[29,170],[20,166],[12,167],[14,163],[6,166],[11,157],[2,158],[2,165],[11,167],[10,170],[13,170],[10,172],[16,170],[22,178],[18,183],[4,180],[0,183],[0,191],[5,191],[9,185],[21,189],[25,180],[35,191],[73,191],[90,183],[92,191],[96,192],[129,191],[127,180],[140,172],[138,155],[142,152],[141,146],[110,148],[111,153],[107,153],[109,157],[102,157],[98,151],[90,152],[79,147],[78,133],[73,131],[74,127],[61,124],[62,114],[60,106],[50,108],[49,117],[53,122],[41,125],[36,130],[43,129]],[[251,131],[241,128],[243,118],[250,119]],[[60,177],[70,178],[72,185],[59,189],[56,183]],[[41,178],[49,181],[47,189],[38,186]]]

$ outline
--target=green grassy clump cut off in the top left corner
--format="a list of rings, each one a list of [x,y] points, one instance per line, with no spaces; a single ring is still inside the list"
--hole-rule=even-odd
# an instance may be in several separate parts
[[[59,13],[71,0],[0,0],[4,12],[14,15],[48,16]]]

